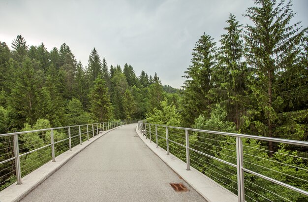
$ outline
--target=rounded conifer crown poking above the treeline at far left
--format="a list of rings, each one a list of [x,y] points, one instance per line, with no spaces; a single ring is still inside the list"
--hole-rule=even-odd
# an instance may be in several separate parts
[[[17,35],[12,42],[12,48],[13,59],[21,63],[28,53],[28,45],[24,37]]]

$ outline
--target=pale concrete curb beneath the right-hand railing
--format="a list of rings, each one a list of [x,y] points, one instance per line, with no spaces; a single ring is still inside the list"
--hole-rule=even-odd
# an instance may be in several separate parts
[[[180,175],[194,190],[196,190],[208,202],[238,202],[238,196],[216,183],[211,178],[202,174],[195,168],[190,167],[186,170],[186,164],[179,160],[176,156],[166,155],[166,151],[160,147],[156,147],[156,143],[146,139],[138,129],[136,133],[141,140],[171,169]],[[147,141],[146,141],[147,140]]]

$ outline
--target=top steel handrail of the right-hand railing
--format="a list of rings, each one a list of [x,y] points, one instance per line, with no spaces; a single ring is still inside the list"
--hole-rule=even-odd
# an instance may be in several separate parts
[[[151,124],[151,123],[144,123],[149,124],[152,126],[159,126],[159,127],[167,127],[173,129],[181,129],[187,131],[195,131],[195,132],[203,132],[203,133],[211,133],[217,135],[228,135],[228,136],[237,136],[237,137],[246,137],[264,141],[272,141],[272,142],[279,142],[279,143],[286,143],[286,144],[295,144],[299,146],[308,146],[308,141],[301,141],[301,140],[294,140],[294,139],[283,139],[277,137],[265,137],[265,136],[257,136],[257,135],[246,135],[246,134],[236,134],[236,133],[227,133],[227,132],[219,132],[219,131],[208,131],[208,130],[201,130],[201,129],[192,129],[192,128],[184,128],[184,127],[177,127],[177,126],[167,126],[167,125],[160,125],[160,124]]]

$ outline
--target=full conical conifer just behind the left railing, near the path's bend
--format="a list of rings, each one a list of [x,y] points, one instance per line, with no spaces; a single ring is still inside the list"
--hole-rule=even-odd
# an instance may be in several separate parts
[[[103,79],[95,79],[89,99],[91,104],[90,110],[98,122],[108,121],[112,117],[110,96]]]

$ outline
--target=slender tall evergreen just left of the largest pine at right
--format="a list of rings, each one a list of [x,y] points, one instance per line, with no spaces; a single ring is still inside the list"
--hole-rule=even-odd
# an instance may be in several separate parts
[[[218,64],[213,68],[211,89],[212,99],[227,107],[229,121],[240,127],[241,111],[244,110],[243,98],[246,90],[246,64],[243,62],[244,43],[241,39],[242,25],[230,14],[227,32],[221,35],[218,50]],[[216,105],[215,105],[216,107]]]

